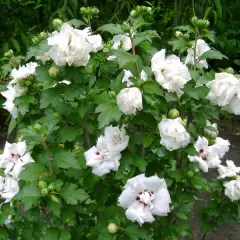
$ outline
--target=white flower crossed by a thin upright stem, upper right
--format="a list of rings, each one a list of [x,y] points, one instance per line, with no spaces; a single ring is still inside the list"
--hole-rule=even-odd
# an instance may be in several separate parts
[[[194,48],[195,48],[195,42],[193,43],[192,48],[188,49],[188,55],[186,57],[185,64],[194,65]],[[209,50],[210,50],[210,47],[204,40],[202,40],[202,39],[197,40],[196,59],[195,59],[197,68],[199,68],[199,69],[208,68],[208,63],[207,63],[206,59],[199,61],[199,58],[202,56],[203,53],[205,53]]]

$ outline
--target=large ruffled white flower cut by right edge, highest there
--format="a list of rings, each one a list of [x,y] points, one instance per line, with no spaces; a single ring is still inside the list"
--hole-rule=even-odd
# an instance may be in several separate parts
[[[207,98],[225,110],[240,115],[240,80],[226,72],[216,73],[215,80],[207,83]]]

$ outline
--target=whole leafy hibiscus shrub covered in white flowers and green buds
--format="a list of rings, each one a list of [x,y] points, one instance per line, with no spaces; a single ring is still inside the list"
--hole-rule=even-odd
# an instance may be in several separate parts
[[[211,194],[203,239],[237,220],[240,168],[221,165],[230,143],[214,122],[240,114],[240,80],[209,66],[226,57],[207,20],[178,27],[173,54],[159,49],[151,11],[96,34],[98,10],[81,9],[84,21],[55,19],[25,57],[5,54],[16,141],[0,155],[1,239],[191,237],[200,192]]]

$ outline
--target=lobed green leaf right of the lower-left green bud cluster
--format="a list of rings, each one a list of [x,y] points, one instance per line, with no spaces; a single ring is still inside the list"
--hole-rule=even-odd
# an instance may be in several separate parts
[[[88,194],[83,189],[78,189],[73,183],[66,184],[60,191],[60,196],[68,203],[76,205],[78,201],[88,199]]]

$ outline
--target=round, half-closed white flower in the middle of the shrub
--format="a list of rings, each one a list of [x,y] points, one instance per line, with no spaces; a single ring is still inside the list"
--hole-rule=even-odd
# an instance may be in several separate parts
[[[125,115],[135,115],[142,110],[142,93],[136,87],[124,88],[117,95],[117,104]]]

